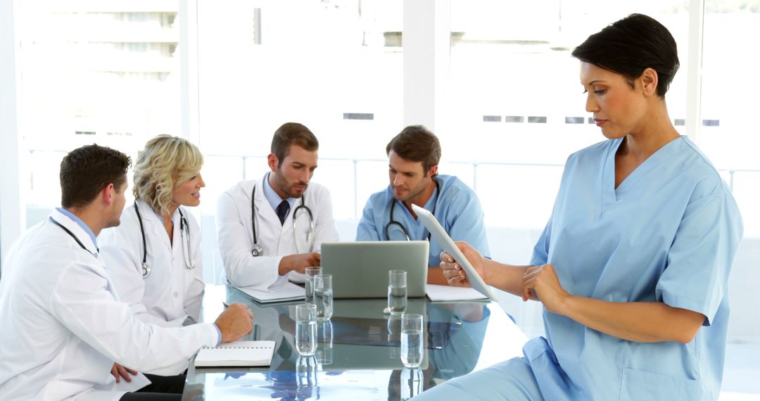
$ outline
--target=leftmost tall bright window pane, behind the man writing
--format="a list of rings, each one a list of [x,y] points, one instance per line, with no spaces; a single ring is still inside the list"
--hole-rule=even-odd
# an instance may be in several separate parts
[[[27,226],[59,204],[59,164],[97,143],[134,158],[179,134],[178,3],[15,2]]]

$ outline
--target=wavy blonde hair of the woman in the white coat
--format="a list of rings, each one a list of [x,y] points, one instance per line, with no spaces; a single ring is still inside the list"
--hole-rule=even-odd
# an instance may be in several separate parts
[[[135,199],[143,200],[160,215],[169,213],[174,188],[191,180],[203,166],[203,155],[181,137],[159,135],[145,144],[135,163]]]

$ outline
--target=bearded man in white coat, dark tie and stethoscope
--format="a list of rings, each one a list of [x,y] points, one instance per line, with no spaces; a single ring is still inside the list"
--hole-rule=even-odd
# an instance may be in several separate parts
[[[319,142],[302,124],[277,128],[260,180],[225,191],[217,204],[219,251],[233,286],[274,290],[319,266],[322,242],[338,240],[330,191],[310,183]],[[307,189],[308,188],[308,189]]]

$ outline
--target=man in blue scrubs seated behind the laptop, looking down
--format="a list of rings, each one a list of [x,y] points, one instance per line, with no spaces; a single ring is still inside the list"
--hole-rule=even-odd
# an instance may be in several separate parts
[[[367,200],[356,241],[430,239],[428,283],[446,285],[437,268],[443,249],[412,212],[416,204],[430,210],[454,241],[466,241],[490,254],[480,200],[459,178],[439,175],[441,144],[432,132],[422,125],[404,128],[385,153],[391,184]]]

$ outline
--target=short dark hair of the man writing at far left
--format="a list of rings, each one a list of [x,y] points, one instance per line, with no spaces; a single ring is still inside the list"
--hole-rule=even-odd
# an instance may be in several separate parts
[[[121,188],[127,181],[131,159],[118,150],[87,145],[71,150],[61,160],[61,206],[85,207],[103,188]]]

